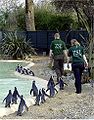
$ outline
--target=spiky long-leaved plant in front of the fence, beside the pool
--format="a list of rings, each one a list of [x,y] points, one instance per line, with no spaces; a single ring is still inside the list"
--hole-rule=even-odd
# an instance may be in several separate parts
[[[31,43],[17,34],[17,32],[4,33],[4,38],[0,44],[4,55],[11,56],[13,59],[23,59],[26,55],[36,54]]]

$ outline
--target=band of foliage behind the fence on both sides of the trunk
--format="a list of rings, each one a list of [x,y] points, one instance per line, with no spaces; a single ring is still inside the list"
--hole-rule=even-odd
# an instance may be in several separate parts
[[[66,7],[67,3],[68,0],[66,2],[61,1],[59,2],[59,4],[57,1],[55,1],[54,5],[48,2],[47,4],[45,3],[44,6],[41,7],[36,6],[35,7],[36,30],[56,30],[56,29],[68,30],[70,28],[72,28],[73,30],[79,28],[88,29],[88,27],[86,27],[87,25],[90,25],[90,17],[88,14],[86,14],[87,13],[86,9],[88,9],[88,5],[82,7],[79,4],[75,5],[74,2],[71,7],[67,8]],[[13,6],[12,9],[9,8],[8,10],[6,9],[1,11],[0,29],[26,30],[25,8],[21,4],[19,4],[18,6],[17,5],[12,6]],[[79,19],[77,19],[77,17]],[[86,18],[87,21],[84,21],[84,18]]]

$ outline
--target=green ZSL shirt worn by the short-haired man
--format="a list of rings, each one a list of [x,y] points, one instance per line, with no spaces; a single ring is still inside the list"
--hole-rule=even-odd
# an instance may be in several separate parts
[[[61,39],[55,39],[52,41],[50,49],[52,50],[54,56],[62,55],[63,50],[66,50],[66,45]]]

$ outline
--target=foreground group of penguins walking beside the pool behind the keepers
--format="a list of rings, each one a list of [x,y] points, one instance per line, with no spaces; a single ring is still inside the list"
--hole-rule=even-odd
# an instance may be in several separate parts
[[[55,93],[58,93],[58,90],[55,88],[56,85],[59,85],[59,89],[64,89],[64,82],[62,77],[60,77],[57,81],[57,83],[54,83],[53,76],[50,77],[48,83],[47,83],[47,90],[44,88],[39,89],[36,86],[36,82],[32,82],[32,87],[30,90],[30,95],[33,93],[33,96],[35,97],[35,104],[34,105],[40,105],[40,103],[44,103],[46,101],[45,96],[51,98],[54,97]],[[66,84],[67,85],[67,84]],[[49,95],[46,93],[49,91]],[[56,92],[55,92],[56,91]],[[14,88],[14,92],[12,94],[11,90],[9,90],[8,95],[4,98],[3,102],[5,101],[5,107],[11,107],[11,104],[17,104],[18,97],[20,98],[20,103],[18,106],[17,115],[22,116],[24,107],[28,111],[28,107],[26,105],[26,102],[23,98],[23,95],[20,95],[17,88]]]

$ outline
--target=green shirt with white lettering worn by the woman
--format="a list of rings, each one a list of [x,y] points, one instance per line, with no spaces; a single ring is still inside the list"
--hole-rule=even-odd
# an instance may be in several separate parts
[[[84,49],[82,46],[72,46],[69,49],[69,56],[72,56],[72,63],[83,63]]]

